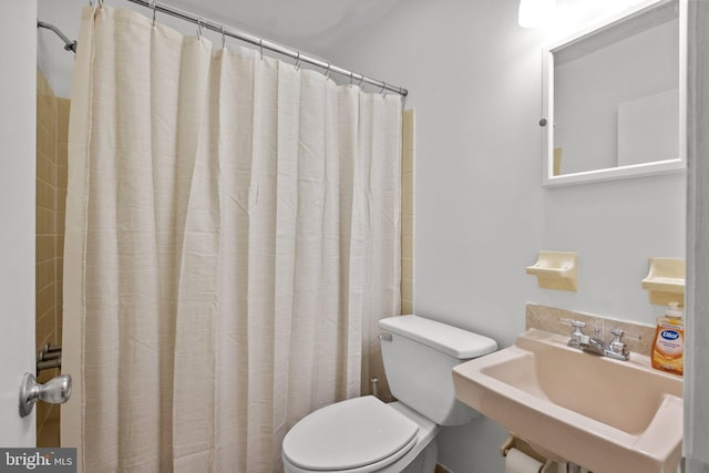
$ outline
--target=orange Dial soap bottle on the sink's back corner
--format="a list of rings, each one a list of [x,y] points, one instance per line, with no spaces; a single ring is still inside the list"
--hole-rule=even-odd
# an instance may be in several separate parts
[[[653,343],[653,368],[682,374],[685,361],[685,321],[678,302],[670,302],[665,316],[657,318]]]

